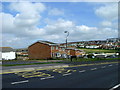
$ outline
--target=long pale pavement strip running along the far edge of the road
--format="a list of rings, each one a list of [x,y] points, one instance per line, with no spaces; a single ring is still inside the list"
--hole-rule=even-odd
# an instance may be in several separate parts
[[[99,65],[116,63],[118,60],[102,60],[102,61],[83,61],[83,62],[65,62],[65,63],[52,63],[52,64],[37,64],[37,65],[22,65],[22,66],[3,66],[0,68],[0,74],[32,71],[32,70],[46,70],[53,68],[65,68],[65,67],[76,67],[76,66],[88,66],[88,65]],[[18,63],[18,62],[17,62]]]

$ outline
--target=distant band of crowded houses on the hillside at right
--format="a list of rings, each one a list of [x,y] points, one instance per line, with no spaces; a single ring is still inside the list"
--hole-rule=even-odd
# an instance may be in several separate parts
[[[66,43],[60,44],[65,46]],[[118,49],[120,48],[120,38],[109,38],[106,40],[68,42],[69,47],[79,48],[99,48],[99,49]]]

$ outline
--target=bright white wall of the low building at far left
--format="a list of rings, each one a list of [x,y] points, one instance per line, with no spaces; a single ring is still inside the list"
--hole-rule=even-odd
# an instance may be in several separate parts
[[[16,58],[15,52],[2,52],[2,59],[12,60]]]

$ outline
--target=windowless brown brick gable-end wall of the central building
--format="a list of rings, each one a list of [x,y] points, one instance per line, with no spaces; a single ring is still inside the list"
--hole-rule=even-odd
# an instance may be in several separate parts
[[[51,47],[37,42],[28,47],[28,57],[29,59],[49,59],[51,58]]]

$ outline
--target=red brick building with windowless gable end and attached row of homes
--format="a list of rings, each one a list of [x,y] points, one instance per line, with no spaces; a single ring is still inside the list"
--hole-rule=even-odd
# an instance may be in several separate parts
[[[75,55],[81,55],[81,51],[73,48],[66,49],[64,46],[48,41],[38,41],[28,47],[29,59],[66,58]]]

